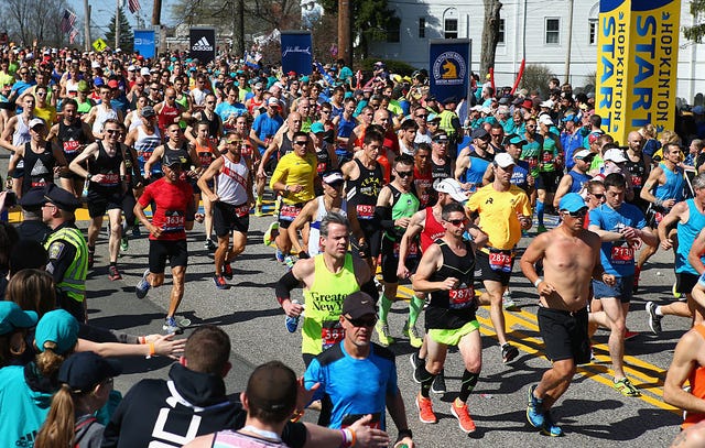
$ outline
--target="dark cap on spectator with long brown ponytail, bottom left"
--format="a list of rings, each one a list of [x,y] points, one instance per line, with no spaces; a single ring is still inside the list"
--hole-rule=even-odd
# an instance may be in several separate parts
[[[68,357],[58,369],[58,382],[68,384],[74,392],[90,392],[96,385],[122,373],[122,365],[113,359],[102,358],[93,351],[82,351]]]

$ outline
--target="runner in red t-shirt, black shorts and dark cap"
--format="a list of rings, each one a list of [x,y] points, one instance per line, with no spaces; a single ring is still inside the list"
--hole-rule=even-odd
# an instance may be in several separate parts
[[[196,205],[194,190],[181,177],[181,159],[165,154],[162,160],[164,177],[148,185],[134,206],[134,215],[150,231],[150,266],[135,287],[138,298],[144,298],[150,287],[164,283],[164,269],[169,259],[172,267],[173,286],[166,319],[162,327],[166,332],[182,334],[184,330],[174,318],[176,308],[184,296],[184,281],[188,264],[186,230],[194,227]],[[152,221],[144,215],[144,208],[152,205]]]

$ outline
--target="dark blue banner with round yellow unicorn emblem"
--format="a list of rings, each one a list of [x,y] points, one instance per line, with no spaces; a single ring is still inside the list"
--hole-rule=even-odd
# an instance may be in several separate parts
[[[429,41],[431,94],[440,101],[467,96],[470,73],[470,41],[443,39]]]

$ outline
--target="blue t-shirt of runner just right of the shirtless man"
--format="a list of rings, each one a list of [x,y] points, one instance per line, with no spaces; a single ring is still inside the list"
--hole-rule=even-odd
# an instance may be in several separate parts
[[[622,203],[617,210],[603,204],[590,210],[590,226],[601,230],[619,232],[625,227],[643,229],[647,220],[641,210],[631,204]],[[603,242],[599,254],[605,272],[617,277],[634,274],[634,249],[626,241]]]

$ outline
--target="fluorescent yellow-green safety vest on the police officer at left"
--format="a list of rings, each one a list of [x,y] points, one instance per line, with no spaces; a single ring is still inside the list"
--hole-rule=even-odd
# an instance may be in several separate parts
[[[84,302],[86,298],[86,276],[88,275],[88,244],[80,230],[64,227],[50,234],[44,248],[48,250],[52,243],[57,240],[63,240],[76,248],[76,254],[64,273],[64,278],[56,284],[56,289],[74,301]]]

